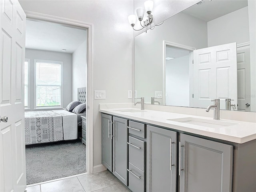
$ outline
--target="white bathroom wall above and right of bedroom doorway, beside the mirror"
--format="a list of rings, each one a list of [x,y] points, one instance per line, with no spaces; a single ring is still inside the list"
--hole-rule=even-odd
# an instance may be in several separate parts
[[[93,89],[106,90],[106,100],[94,100],[94,166],[101,164],[100,103],[131,102],[133,30],[128,15],[131,0],[22,0],[24,10],[92,24]]]

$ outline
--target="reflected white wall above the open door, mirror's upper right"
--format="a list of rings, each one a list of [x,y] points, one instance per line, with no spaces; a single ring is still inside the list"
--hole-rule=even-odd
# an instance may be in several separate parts
[[[248,7],[236,10],[207,23],[208,47],[237,42],[248,42]]]

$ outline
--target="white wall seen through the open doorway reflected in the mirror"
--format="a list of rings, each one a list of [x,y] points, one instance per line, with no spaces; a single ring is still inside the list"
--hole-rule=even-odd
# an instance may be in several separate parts
[[[166,105],[189,107],[189,55],[166,60],[166,94]]]

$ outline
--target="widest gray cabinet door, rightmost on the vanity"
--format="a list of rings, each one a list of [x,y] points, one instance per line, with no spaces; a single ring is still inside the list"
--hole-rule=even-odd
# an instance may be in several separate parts
[[[232,191],[233,146],[180,134],[179,151],[180,192]]]

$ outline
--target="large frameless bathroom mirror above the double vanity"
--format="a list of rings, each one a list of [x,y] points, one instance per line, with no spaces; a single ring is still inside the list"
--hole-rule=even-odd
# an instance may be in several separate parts
[[[252,1],[203,0],[136,36],[136,97],[197,108],[218,98],[220,109],[256,112]]]

